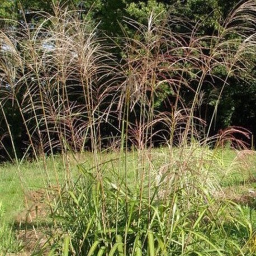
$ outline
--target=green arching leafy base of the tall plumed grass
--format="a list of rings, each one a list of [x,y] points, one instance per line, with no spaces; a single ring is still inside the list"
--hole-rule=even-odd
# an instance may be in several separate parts
[[[207,150],[187,149],[193,163],[184,166],[177,150],[177,162],[162,162],[165,172],[160,169],[158,181],[153,176],[159,169],[151,169],[150,187],[147,173],[144,181],[136,177],[139,167],[130,169],[134,175],[125,183],[115,167],[112,172],[103,167],[98,180],[96,170],[78,165],[81,177],[63,193],[54,214],[61,230],[51,236],[57,252],[62,247],[59,241],[66,238],[73,255],[254,255],[254,213],[218,195],[221,176],[212,182],[211,172],[216,175],[219,167],[211,163],[209,168],[211,158],[201,158],[198,173],[198,151]],[[165,149],[163,154],[168,153]],[[205,155],[209,154],[214,153],[209,150]],[[157,165],[158,155],[152,165]],[[137,157],[129,160],[138,161]]]

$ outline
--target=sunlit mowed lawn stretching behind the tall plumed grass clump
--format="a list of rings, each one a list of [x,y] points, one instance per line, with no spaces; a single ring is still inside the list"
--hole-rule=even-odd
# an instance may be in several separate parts
[[[111,189],[115,188],[116,193],[120,193],[120,195],[127,189],[128,192],[126,193],[132,195],[132,190],[136,191],[136,187],[141,187],[141,168],[150,169],[150,183],[152,187],[161,187],[161,179],[167,166],[170,165],[175,170],[176,164],[184,164],[186,162],[188,165],[190,164],[189,168],[192,169],[193,164],[195,164],[195,168],[198,168],[197,164],[200,166],[203,165],[203,168],[198,169],[202,173],[198,173],[195,169],[195,173],[193,174],[199,183],[202,181],[202,184],[203,182],[212,184],[212,187],[208,186],[208,190],[217,200],[224,198],[225,200],[234,201],[243,207],[244,210],[241,218],[245,218],[247,214],[248,216],[250,215],[250,220],[248,221],[252,221],[250,225],[252,225],[252,230],[254,230],[256,228],[254,227],[254,207],[256,207],[256,189],[254,191],[254,188],[256,188],[255,152],[230,149],[211,150],[201,148],[200,146],[191,146],[188,149],[183,148],[182,154],[180,153],[181,149],[173,149],[173,155],[170,157],[170,150],[167,148],[151,149],[150,152],[145,151],[144,153],[140,153],[143,154],[143,158],[141,158],[137,151],[129,151],[127,153],[101,153],[96,156],[99,161],[97,168],[101,169],[103,179],[108,182],[107,187]],[[201,163],[200,159],[202,158],[205,158],[205,160]],[[172,159],[172,163],[169,163],[170,159]],[[143,165],[141,165],[141,161],[143,161]],[[83,177],[84,173],[93,173],[96,169],[95,162],[96,159],[93,153],[69,153],[63,156],[48,157],[45,160],[40,159],[37,162],[23,162],[18,166],[11,163],[1,164],[0,195],[3,212],[2,219],[8,223],[10,227],[9,231],[12,228],[12,234],[14,234],[18,225],[25,224],[22,223],[19,216],[30,210],[27,208],[26,199],[28,201],[31,200],[29,196],[31,192],[51,192],[54,190],[54,195],[57,198],[59,193],[63,195],[63,191],[67,190],[73,191],[74,195],[70,195],[72,195],[72,198],[75,198],[77,195],[75,194],[74,187],[77,184],[77,180],[79,177]],[[146,177],[143,185],[145,194],[149,191],[148,182],[149,177]],[[186,199],[184,198],[184,200]],[[38,200],[40,201],[41,198],[38,198]],[[46,197],[44,197],[44,200],[46,205],[48,205],[49,201]],[[160,198],[159,200],[161,201],[162,199]],[[30,204],[30,202],[28,203]],[[54,205],[54,202],[51,203]],[[200,211],[200,208],[198,211]],[[239,212],[238,208],[234,207],[232,214],[240,216],[241,212]],[[44,218],[46,221],[48,217],[44,215],[40,221],[44,222]],[[20,223],[18,223],[19,221]],[[10,233],[6,233],[5,235],[8,234]],[[8,238],[10,239],[10,235]],[[11,239],[15,240],[17,238],[15,235],[12,235]],[[2,241],[6,243],[6,240],[3,238]],[[15,241],[15,243],[23,244],[24,241]],[[0,245],[1,248],[4,246],[6,244]],[[22,246],[25,245],[23,244]],[[24,250],[22,246],[18,248]],[[18,250],[17,247],[14,248],[12,250]]]

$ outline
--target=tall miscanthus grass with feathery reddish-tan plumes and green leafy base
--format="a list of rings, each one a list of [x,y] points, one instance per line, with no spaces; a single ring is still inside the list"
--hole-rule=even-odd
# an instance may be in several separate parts
[[[255,253],[248,212],[217,196],[225,170],[208,149],[223,139],[209,135],[229,77],[249,75],[253,67],[255,11],[254,1],[240,4],[212,36],[200,35],[200,24],[152,13],[145,24],[127,20],[134,36],[116,46],[77,13],[58,8],[52,16],[42,13],[37,27],[18,23],[1,31],[6,154],[20,162],[14,115],[28,141],[23,159],[45,161],[42,153],[54,159],[59,151],[67,162],[67,151],[92,151],[91,167],[78,163],[77,181],[67,164],[66,183],[57,182],[52,255]],[[195,114],[204,87],[216,81],[206,129]],[[159,111],[168,98],[168,108]],[[153,149],[155,141],[165,145],[162,151]],[[46,164],[44,171],[51,188]]]

